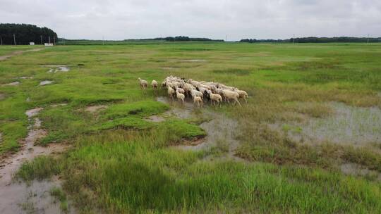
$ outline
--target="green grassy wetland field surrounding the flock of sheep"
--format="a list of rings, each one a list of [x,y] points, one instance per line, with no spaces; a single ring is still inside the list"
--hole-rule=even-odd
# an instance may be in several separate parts
[[[378,213],[380,58],[381,44],[197,42],[12,56],[0,61],[0,196],[15,172],[59,178],[52,197],[78,213]],[[138,77],[168,75],[238,87],[248,103],[140,91]]]

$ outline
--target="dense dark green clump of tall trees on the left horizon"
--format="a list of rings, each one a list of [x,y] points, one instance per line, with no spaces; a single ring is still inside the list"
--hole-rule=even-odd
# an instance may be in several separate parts
[[[37,27],[36,25],[27,24],[1,24],[0,37],[3,44],[14,44],[13,34],[15,35],[16,44],[42,44],[49,42],[57,42],[58,37],[56,32],[47,27]]]

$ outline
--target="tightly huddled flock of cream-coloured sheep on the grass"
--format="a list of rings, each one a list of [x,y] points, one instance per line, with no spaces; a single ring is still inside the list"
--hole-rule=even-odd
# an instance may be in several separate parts
[[[138,78],[140,88],[145,93],[147,89],[148,82]],[[156,80],[152,80],[151,86],[155,93],[159,88]],[[168,95],[174,100],[176,96],[178,101],[184,103],[186,96],[191,97],[193,100],[193,105],[198,107],[202,106],[204,101],[210,101],[214,106],[221,105],[222,101],[230,103],[234,101],[234,105],[239,102],[239,99],[243,99],[246,103],[246,98],[248,98],[248,93],[243,90],[239,90],[236,87],[229,87],[219,82],[205,82],[205,81],[195,81],[192,79],[184,80],[180,77],[169,76],[165,78],[161,85],[162,89],[167,89]]]

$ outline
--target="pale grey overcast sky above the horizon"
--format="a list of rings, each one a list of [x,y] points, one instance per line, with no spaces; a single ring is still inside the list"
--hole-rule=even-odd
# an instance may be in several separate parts
[[[67,39],[381,37],[381,0],[0,0],[0,23]]]

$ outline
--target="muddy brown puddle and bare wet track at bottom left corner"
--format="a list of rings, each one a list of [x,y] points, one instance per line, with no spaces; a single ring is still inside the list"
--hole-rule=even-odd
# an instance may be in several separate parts
[[[36,156],[47,155],[50,153],[59,153],[68,148],[64,144],[49,144],[49,146],[35,146],[35,142],[41,137],[46,136],[47,132],[41,129],[41,120],[35,116],[42,111],[43,108],[33,108],[25,112],[28,120],[34,120],[34,124],[28,127],[28,136],[23,141],[23,147],[15,154],[11,154],[1,160],[0,163],[0,213],[23,213],[23,206],[28,208],[37,208],[37,213],[60,213],[59,206],[47,206],[51,201],[44,197],[45,194],[32,193],[32,202],[26,200],[30,191],[48,191],[54,182],[32,182],[32,186],[28,187],[25,183],[14,183],[13,174],[20,168],[25,160],[32,160]],[[37,197],[38,196],[38,197]],[[37,201],[36,201],[37,200]],[[30,203],[28,205],[28,203]],[[24,207],[25,208],[25,207]],[[25,210],[24,210],[25,211]]]

